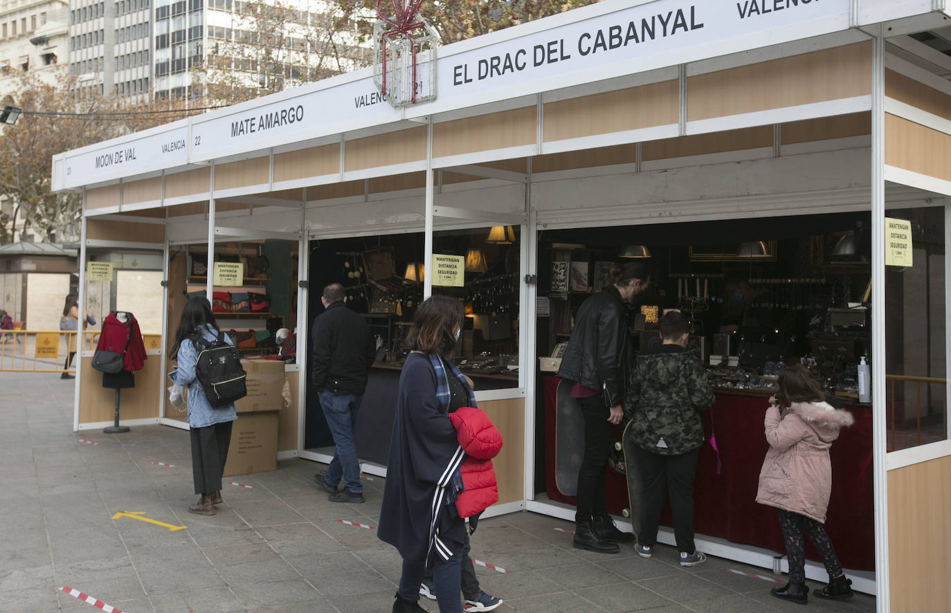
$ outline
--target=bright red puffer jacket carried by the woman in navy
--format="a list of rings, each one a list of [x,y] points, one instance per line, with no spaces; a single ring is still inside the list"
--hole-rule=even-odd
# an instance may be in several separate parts
[[[449,413],[449,419],[456,428],[459,446],[466,454],[459,467],[465,490],[456,498],[456,511],[459,517],[471,517],[498,500],[492,458],[502,449],[502,435],[479,409],[462,407]]]

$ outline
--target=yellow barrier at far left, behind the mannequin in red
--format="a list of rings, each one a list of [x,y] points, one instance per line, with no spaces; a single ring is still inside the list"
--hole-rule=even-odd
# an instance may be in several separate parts
[[[99,331],[83,332],[83,351],[94,351]],[[76,360],[68,355],[76,351],[75,331],[4,330],[0,331],[0,372],[75,373]],[[142,335],[148,349],[162,348],[162,335]]]

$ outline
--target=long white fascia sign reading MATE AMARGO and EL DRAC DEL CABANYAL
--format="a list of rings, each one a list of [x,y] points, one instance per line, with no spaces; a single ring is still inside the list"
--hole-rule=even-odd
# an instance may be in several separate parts
[[[75,187],[185,163],[313,140],[410,117],[595,83],[659,67],[849,28],[851,0],[655,0],[606,2],[440,48],[436,100],[386,103],[372,70],[344,74],[189,118],[173,129],[114,139],[53,164],[54,188]],[[617,10],[611,10],[619,7]],[[424,10],[425,12],[425,10]],[[590,16],[588,16],[590,15]],[[587,16],[587,17],[586,17]],[[425,17],[425,14],[423,14]],[[551,25],[547,29],[542,29]],[[464,49],[454,52],[455,49]],[[417,71],[430,57],[417,58]],[[363,76],[359,76],[363,75]],[[425,80],[417,93],[425,98]],[[184,148],[183,148],[184,144]],[[117,152],[122,152],[121,154]],[[111,157],[109,157],[111,155]]]

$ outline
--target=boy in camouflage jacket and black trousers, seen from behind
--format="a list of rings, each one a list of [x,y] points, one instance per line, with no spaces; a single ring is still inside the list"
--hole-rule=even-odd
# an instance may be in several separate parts
[[[650,558],[670,491],[682,566],[707,559],[693,544],[693,479],[704,443],[700,412],[713,406],[713,390],[700,356],[687,350],[689,330],[687,318],[676,311],[661,318],[663,344],[637,355],[624,403],[625,416],[631,420],[625,436],[638,450],[643,487],[641,531],[634,548]]]

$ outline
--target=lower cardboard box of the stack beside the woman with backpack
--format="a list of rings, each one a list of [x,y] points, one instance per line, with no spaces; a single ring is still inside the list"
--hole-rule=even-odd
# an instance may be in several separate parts
[[[223,476],[278,469],[278,412],[246,412],[231,425]]]

